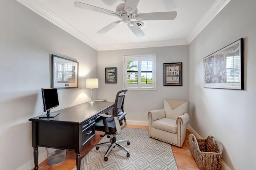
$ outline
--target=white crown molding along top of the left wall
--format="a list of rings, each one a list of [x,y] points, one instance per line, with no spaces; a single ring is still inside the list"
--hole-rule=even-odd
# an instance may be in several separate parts
[[[64,31],[68,32],[69,34],[73,35],[80,41],[86,43],[90,47],[98,50],[98,44],[96,44],[92,39],[88,38],[82,32],[78,31],[75,27],[64,21],[62,18],[54,14],[51,10],[46,8],[37,0],[16,0],[20,2],[22,5],[26,6],[36,14],[42,16],[46,20],[50,21],[54,25],[60,27]]]

